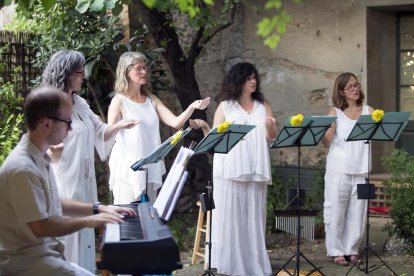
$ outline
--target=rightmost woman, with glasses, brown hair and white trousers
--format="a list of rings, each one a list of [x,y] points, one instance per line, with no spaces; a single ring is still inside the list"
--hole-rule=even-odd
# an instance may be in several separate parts
[[[357,184],[365,183],[371,168],[368,145],[364,141],[346,141],[358,118],[374,111],[363,103],[364,98],[357,77],[340,74],[335,80],[329,112],[337,119],[322,140],[329,146],[323,214],[326,250],[342,266],[358,260],[366,223],[367,201],[358,200]]]

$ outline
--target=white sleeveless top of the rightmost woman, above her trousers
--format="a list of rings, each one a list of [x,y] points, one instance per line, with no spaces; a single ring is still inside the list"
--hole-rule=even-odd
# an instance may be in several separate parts
[[[363,174],[371,170],[368,168],[369,144],[365,141],[346,142],[357,120],[351,120],[345,113],[335,108],[336,132],[329,148],[326,159],[326,169],[347,174]],[[368,115],[368,105],[364,105],[361,115]]]

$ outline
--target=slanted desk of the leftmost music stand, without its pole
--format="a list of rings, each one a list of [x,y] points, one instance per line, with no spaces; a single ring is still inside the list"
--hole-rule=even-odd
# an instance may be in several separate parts
[[[174,140],[176,135],[181,131],[181,136],[175,141],[175,143],[171,143]],[[153,152],[151,152],[147,157],[144,159],[138,160],[134,164],[132,164],[131,169],[134,171],[142,170],[144,165],[150,163],[157,163],[159,160],[164,159],[165,156],[175,147],[175,145],[181,141],[188,133],[190,133],[191,127],[188,127],[185,130],[179,130],[174,135],[169,137],[165,140],[161,145],[158,146]]]

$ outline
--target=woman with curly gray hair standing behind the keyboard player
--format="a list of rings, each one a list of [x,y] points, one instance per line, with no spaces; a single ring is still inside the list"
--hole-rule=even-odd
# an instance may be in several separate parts
[[[49,59],[42,75],[42,82],[68,93],[73,100],[72,118],[51,118],[66,123],[71,129],[63,143],[51,146],[48,153],[56,176],[61,198],[83,202],[98,202],[95,177],[95,149],[101,159],[108,154],[115,134],[121,128],[131,128],[136,121],[122,120],[108,126],[103,123],[76,94],[81,89],[85,75],[85,57],[77,51],[61,50]],[[63,237],[65,257],[95,273],[95,233],[82,229]]]

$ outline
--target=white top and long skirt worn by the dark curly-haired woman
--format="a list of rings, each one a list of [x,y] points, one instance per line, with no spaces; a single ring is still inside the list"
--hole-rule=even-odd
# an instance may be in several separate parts
[[[271,184],[266,108],[250,114],[233,101],[221,103],[225,119],[256,127],[227,154],[214,154],[211,265],[226,275],[270,275],[266,251],[266,193]]]

